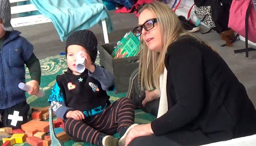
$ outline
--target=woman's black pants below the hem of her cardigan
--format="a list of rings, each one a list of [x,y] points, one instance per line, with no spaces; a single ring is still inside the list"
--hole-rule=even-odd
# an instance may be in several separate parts
[[[163,136],[141,136],[132,140],[128,146],[199,146],[213,142],[217,141],[210,139],[199,130],[181,129]]]

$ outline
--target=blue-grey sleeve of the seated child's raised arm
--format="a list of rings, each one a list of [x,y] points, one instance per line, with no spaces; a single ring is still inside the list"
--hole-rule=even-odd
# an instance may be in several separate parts
[[[89,76],[98,80],[103,90],[109,90],[111,86],[114,86],[114,74],[97,64],[93,65],[95,66],[95,70],[93,73],[88,71]]]

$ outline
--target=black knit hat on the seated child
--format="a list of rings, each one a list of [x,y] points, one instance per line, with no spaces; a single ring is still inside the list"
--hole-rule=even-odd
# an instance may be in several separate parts
[[[91,60],[95,62],[97,57],[97,45],[98,41],[96,36],[93,34],[91,30],[78,30],[76,32],[73,32],[68,36],[68,39],[66,41],[66,49],[65,53],[67,55],[67,48],[70,45],[79,45],[85,48],[89,55],[91,56]]]

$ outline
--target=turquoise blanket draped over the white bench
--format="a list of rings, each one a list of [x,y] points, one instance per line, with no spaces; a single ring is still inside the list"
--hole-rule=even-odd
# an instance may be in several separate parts
[[[110,33],[113,30],[107,8],[102,0],[30,0],[30,2],[41,14],[52,20],[62,42],[70,33],[89,29],[97,23],[101,25],[101,20],[104,19],[106,19],[107,31]]]

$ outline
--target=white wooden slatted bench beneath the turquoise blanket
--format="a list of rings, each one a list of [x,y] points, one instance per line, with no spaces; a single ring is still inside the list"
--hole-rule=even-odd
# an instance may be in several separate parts
[[[28,1],[28,0],[10,0],[10,3],[24,2],[24,1]],[[19,14],[23,12],[31,12],[36,10],[37,8],[35,8],[33,4],[12,6],[11,14]],[[29,26],[29,25],[41,24],[41,23],[47,23],[47,22],[52,22],[52,21],[49,18],[45,17],[43,14],[11,19],[11,24],[13,27]],[[102,20],[101,23],[102,23],[104,41],[105,43],[109,43],[106,21]]]

